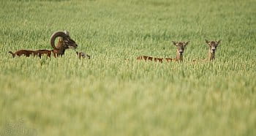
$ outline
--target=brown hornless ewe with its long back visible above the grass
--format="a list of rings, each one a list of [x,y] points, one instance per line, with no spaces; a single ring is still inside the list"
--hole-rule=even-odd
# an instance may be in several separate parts
[[[189,41],[187,42],[175,42],[172,41],[173,45],[176,46],[176,58],[155,58],[155,57],[151,57],[151,56],[138,56],[138,60],[145,60],[145,61],[159,61],[159,62],[163,62],[163,61],[183,61],[183,54],[184,54],[184,50],[185,47],[189,44]]]

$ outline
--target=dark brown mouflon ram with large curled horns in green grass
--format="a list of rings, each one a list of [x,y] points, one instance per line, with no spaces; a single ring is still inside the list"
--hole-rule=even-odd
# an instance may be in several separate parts
[[[59,41],[55,45],[55,39],[57,37],[59,37]],[[75,41],[70,38],[68,31],[56,31],[53,33],[50,37],[50,45],[53,50],[17,50],[15,53],[12,53],[12,51],[9,51],[9,53],[12,54],[13,58],[15,56],[39,56],[41,58],[43,55],[58,57],[63,56],[67,49],[78,48]]]

